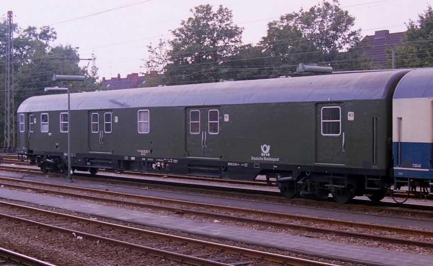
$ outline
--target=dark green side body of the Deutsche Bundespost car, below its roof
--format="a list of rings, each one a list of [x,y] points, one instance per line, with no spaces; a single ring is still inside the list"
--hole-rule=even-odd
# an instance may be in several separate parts
[[[324,106],[341,108],[338,136],[321,134],[321,108]],[[390,107],[389,99],[376,99],[72,110],[69,119],[71,153],[75,155],[72,165],[86,167],[90,166],[87,163],[91,159],[105,159],[112,162],[111,167],[106,168],[158,171],[158,168],[147,167],[147,163],[152,165],[160,160],[169,164],[168,169],[160,171],[200,174],[200,171],[188,172],[188,165],[208,166],[221,169],[218,174],[217,170],[212,170],[210,176],[232,179],[254,179],[267,171],[296,169],[385,175],[392,166]],[[141,109],[149,110],[150,114],[147,134],[138,132],[137,113]],[[190,133],[191,110],[200,111],[199,134]],[[218,134],[209,134],[209,110],[219,111]],[[32,112],[36,123],[34,132],[30,133],[29,113],[26,113],[26,130],[19,133],[20,151],[65,158],[67,133],[60,132],[61,112]],[[347,120],[348,112],[354,113],[353,121]],[[49,115],[48,132],[40,132],[41,113]],[[99,117],[104,113],[112,114],[112,132],[103,133],[102,141],[99,132],[104,123],[100,119],[99,130],[93,133],[92,113],[98,113]],[[225,116],[228,116],[226,120]],[[263,145],[268,146],[264,155]],[[124,161],[129,162],[128,167]],[[204,170],[203,175],[206,173]]]

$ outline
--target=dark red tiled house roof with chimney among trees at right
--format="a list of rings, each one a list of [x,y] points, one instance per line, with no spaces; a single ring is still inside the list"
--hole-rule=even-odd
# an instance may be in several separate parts
[[[374,35],[367,35],[364,39],[368,39],[370,49],[366,49],[365,53],[368,57],[373,58],[373,66],[382,65],[388,66],[386,48],[400,46],[401,38],[404,33],[389,33],[388,29],[376,31]]]

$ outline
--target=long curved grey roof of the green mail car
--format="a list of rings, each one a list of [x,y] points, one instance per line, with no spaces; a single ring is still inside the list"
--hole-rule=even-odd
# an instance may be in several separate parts
[[[176,85],[71,94],[72,110],[391,98],[409,70]],[[26,99],[17,112],[66,110],[66,94]]]

